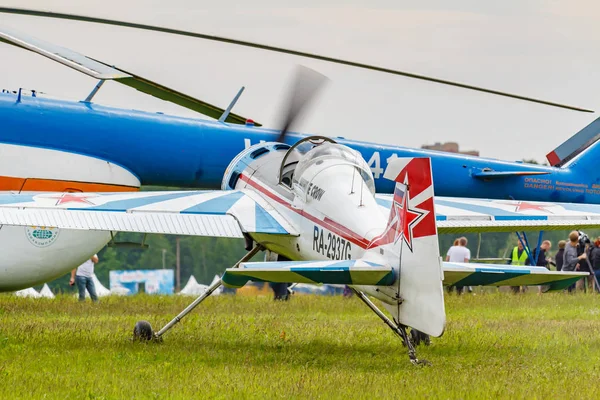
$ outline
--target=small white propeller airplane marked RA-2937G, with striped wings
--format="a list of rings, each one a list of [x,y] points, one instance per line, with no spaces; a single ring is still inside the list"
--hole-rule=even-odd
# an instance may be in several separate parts
[[[359,153],[313,137],[292,147],[262,143],[246,149],[230,163],[222,191],[2,195],[0,242],[9,251],[0,261],[0,290],[64,274],[101,249],[113,232],[245,238],[249,253],[220,281],[160,331],[138,323],[141,336],[162,337],[222,284],[347,284],[404,340],[417,363],[405,328],[443,334],[443,284],[557,290],[586,275],[443,263],[437,234],[598,227],[600,206],[457,198],[434,202],[428,158],[394,160],[385,177],[397,182],[395,193],[376,195]],[[260,250],[279,255],[278,261],[247,262]],[[392,319],[367,296],[379,299]]]

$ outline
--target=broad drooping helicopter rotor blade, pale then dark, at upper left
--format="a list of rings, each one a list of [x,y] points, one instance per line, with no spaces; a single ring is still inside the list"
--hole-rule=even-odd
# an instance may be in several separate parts
[[[188,108],[214,119],[219,119],[219,117],[221,117],[225,111],[222,108],[206,103],[202,100],[198,100],[166,86],[162,86],[156,82],[142,78],[141,76],[134,75],[130,72],[84,56],[83,54],[77,53],[73,50],[45,42],[7,27],[0,26],[0,42],[12,44],[25,50],[38,53],[44,57],[48,57],[53,61],[73,68],[76,71],[91,76],[92,78],[113,80],[137,89],[140,92],[149,94],[150,96],[175,103],[181,107]],[[225,122],[245,124],[246,120],[247,118],[245,117],[229,113],[229,116]],[[256,122],[254,125],[260,126],[260,124]]]

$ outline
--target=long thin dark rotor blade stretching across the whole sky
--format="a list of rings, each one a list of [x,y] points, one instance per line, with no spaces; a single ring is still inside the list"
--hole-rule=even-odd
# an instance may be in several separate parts
[[[106,18],[96,18],[96,17],[89,17],[89,16],[84,16],[84,15],[65,14],[65,13],[57,13],[57,12],[51,12],[51,11],[29,10],[29,9],[23,9],[23,8],[0,7],[0,13],[29,15],[29,16],[36,16],[36,17],[46,17],[46,18],[68,19],[68,20],[72,20],[72,21],[92,22],[92,23],[106,24],[106,25],[116,25],[116,26],[123,26],[123,27],[128,27],[128,28],[143,29],[143,30],[148,30],[148,31],[170,33],[170,34],[180,35],[180,36],[189,36],[189,37],[194,37],[194,38],[199,38],[199,39],[212,40],[215,42],[229,43],[229,44],[234,44],[234,45],[238,45],[238,46],[252,47],[252,48],[256,48],[256,49],[273,51],[273,52],[277,52],[277,53],[284,53],[284,54],[291,54],[291,55],[299,56],[299,57],[312,58],[315,60],[321,60],[321,61],[331,62],[331,63],[335,63],[335,64],[342,64],[342,65],[347,65],[347,66],[356,67],[356,68],[368,69],[368,70],[372,70],[372,71],[383,72],[386,74],[400,75],[400,76],[404,76],[407,78],[419,79],[419,80],[423,80],[423,81],[439,83],[442,85],[455,86],[455,87],[459,87],[462,89],[474,90],[477,92],[489,93],[489,94],[493,94],[493,95],[497,95],[497,96],[510,97],[510,98],[517,99],[517,100],[523,100],[523,101],[529,101],[529,102],[538,103],[538,104],[544,104],[544,105],[551,106],[551,107],[558,107],[558,108],[564,108],[567,110],[588,112],[588,113],[594,112],[593,110],[589,110],[589,109],[585,109],[585,108],[570,106],[570,105],[566,105],[566,104],[554,103],[551,101],[521,96],[521,95],[517,95],[517,94],[513,94],[513,93],[501,92],[498,90],[486,89],[483,87],[469,85],[466,83],[453,82],[453,81],[449,81],[449,80],[445,80],[445,79],[438,79],[438,78],[434,78],[434,77],[430,77],[430,76],[414,74],[411,72],[378,67],[376,65],[369,65],[369,64],[359,63],[359,62],[355,62],[355,61],[343,60],[340,58],[327,57],[327,56],[323,56],[320,54],[307,53],[307,52],[303,52],[303,51],[285,49],[282,47],[269,46],[266,44],[247,42],[244,40],[231,39],[231,38],[226,38],[226,37],[221,37],[221,36],[206,35],[203,33],[189,32],[189,31],[183,31],[183,30],[179,30],[179,29],[171,29],[171,28],[152,26],[152,25],[146,25],[146,24],[139,24],[139,23],[135,23],[135,22],[118,21],[118,20],[112,20],[112,19],[106,19]]]

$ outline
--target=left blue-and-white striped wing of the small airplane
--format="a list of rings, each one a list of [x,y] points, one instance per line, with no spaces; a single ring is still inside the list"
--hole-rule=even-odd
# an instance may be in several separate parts
[[[0,195],[0,225],[241,238],[297,235],[260,195],[245,190]]]

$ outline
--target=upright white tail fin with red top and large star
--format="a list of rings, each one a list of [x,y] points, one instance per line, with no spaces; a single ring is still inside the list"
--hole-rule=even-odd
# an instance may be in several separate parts
[[[399,158],[388,164],[384,176],[395,181],[396,188],[387,229],[374,244],[385,246],[389,253],[386,258],[399,263],[397,289],[402,299],[397,305],[386,304],[386,308],[398,323],[441,336],[446,312],[431,161]]]

